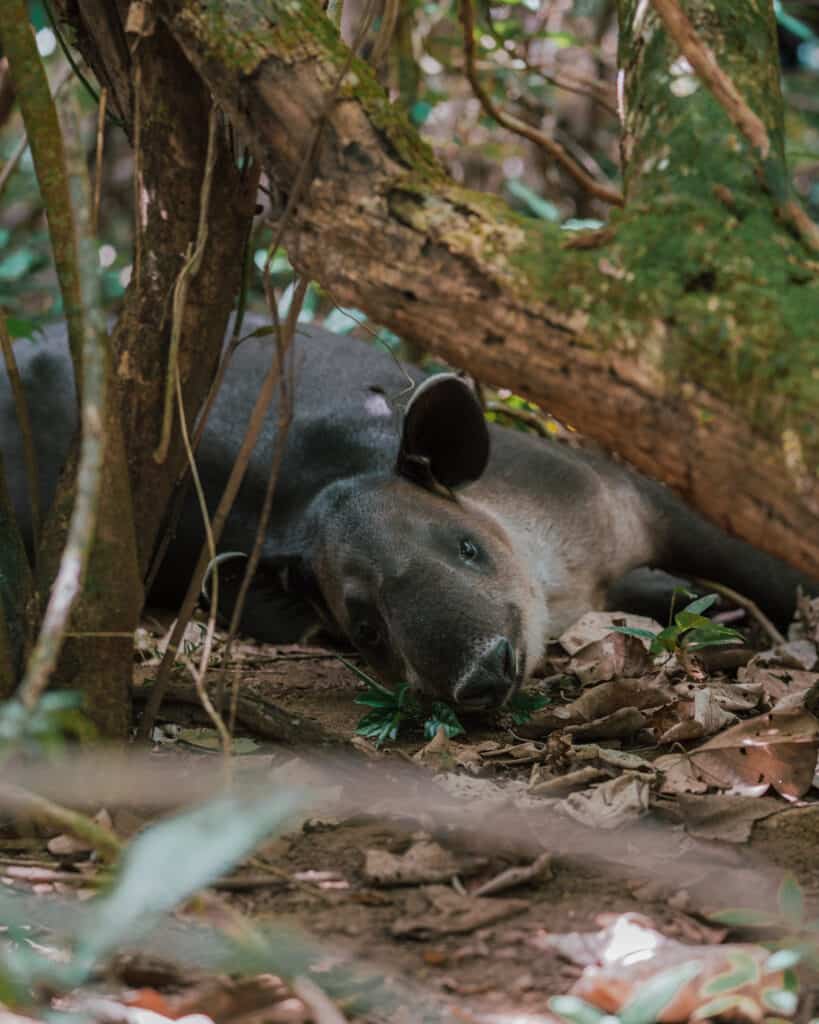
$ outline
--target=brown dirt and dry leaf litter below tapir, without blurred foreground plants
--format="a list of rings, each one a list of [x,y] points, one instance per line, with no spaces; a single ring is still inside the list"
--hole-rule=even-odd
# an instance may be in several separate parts
[[[432,741],[419,726],[381,749],[356,735],[371,710],[356,703],[364,684],[336,654],[243,642],[239,777],[302,787],[308,803],[216,884],[216,916],[292,928],[353,974],[386,979],[391,1007],[379,996],[358,1013],[333,993],[347,1019],[546,1021],[550,998],[569,991],[611,1012],[692,961],[693,982],[670,982],[679,1006],[669,1019],[701,1011],[721,980],[730,997],[770,1013],[766,989],[787,979],[769,949],[808,948],[819,961],[813,640],[745,658],[737,679],[736,666],[658,674],[633,638],[602,636],[594,657],[588,637],[556,653],[558,671],[535,683],[550,702],[528,723],[483,716]],[[149,679],[150,664],[139,672]],[[790,705],[772,710],[783,688]],[[260,726],[259,707],[284,713],[288,742],[272,738],[277,720]],[[202,721],[189,700],[167,702],[153,756],[182,756],[188,773],[218,763]],[[302,748],[301,734],[324,742]],[[114,812],[121,833],[144,820]],[[77,869],[64,854],[3,846],[0,836],[6,885],[64,894],[57,876]],[[41,873],[27,876],[35,863]],[[733,924],[715,916],[726,911]],[[203,913],[212,919],[213,904],[181,918]],[[309,985],[266,974],[240,984],[172,961],[123,956],[107,979],[117,1006],[225,1024],[333,1020]],[[310,977],[320,989],[321,970]],[[801,1015],[816,994],[806,977]]]

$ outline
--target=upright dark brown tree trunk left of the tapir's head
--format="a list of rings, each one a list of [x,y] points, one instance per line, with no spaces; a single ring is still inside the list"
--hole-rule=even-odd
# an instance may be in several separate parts
[[[102,511],[83,597],[57,673],[61,685],[84,691],[87,710],[103,734],[122,736],[130,720],[140,580],[183,459],[176,414],[168,457],[158,463],[154,452],[170,373],[173,289],[197,239],[211,98],[162,25],[138,40],[131,37],[129,46],[123,28],[127,4],[82,0],[63,4],[61,10],[71,17],[99,80],[109,85],[112,103],[136,148],[134,272],[112,338]],[[257,171],[239,169],[224,126],[217,144],[208,242],[182,311],[177,359],[188,422],[207,393],[219,357],[258,180]],[[127,476],[117,472],[113,456],[123,446]],[[45,540],[45,591],[71,514],[72,479],[67,473],[68,485],[59,489]]]

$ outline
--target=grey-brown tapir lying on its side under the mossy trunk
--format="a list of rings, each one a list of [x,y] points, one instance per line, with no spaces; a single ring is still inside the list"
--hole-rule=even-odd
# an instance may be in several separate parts
[[[255,325],[252,325],[255,326]],[[41,493],[53,493],[76,424],[64,331],[15,347],[29,391]],[[239,450],[269,338],[236,350],[198,452],[213,510]],[[637,566],[719,580],[772,617],[816,585],[733,539],[666,487],[596,454],[487,424],[468,384],[425,377],[349,336],[299,327],[294,414],[259,570],[243,617],[260,640],[317,627],[388,682],[466,709],[502,706],[547,643],[605,607]],[[220,548],[250,552],[275,442],[271,408]],[[31,543],[19,432],[0,378],[0,446]],[[189,500],[153,593],[177,600],[203,529]],[[229,613],[244,565],[220,567]]]

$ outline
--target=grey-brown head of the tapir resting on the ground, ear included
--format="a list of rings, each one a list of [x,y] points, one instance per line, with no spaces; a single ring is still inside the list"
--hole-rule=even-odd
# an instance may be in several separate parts
[[[313,554],[322,603],[377,675],[472,708],[507,700],[543,640],[525,559],[491,502],[470,498],[488,456],[471,389],[430,378],[394,471],[334,486]]]

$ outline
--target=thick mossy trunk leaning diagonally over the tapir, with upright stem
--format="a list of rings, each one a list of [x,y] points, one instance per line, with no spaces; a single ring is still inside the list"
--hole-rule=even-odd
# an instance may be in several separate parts
[[[769,5],[686,6],[785,181]],[[299,270],[819,577],[816,261],[649,5],[620,4],[630,202],[586,237],[457,187],[360,61],[329,103],[346,50],[312,0],[156,7],[285,196],[327,116]]]

